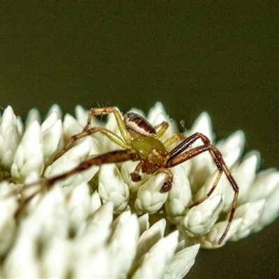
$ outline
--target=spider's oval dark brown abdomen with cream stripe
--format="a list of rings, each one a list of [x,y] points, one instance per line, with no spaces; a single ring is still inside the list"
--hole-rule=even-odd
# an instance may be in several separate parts
[[[145,137],[155,137],[156,130],[155,128],[146,121],[140,114],[135,112],[128,112],[123,119],[125,126],[132,137],[138,137],[143,135]]]

